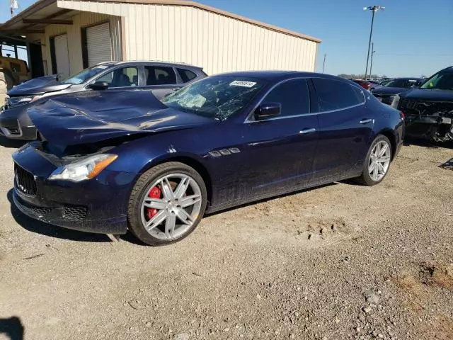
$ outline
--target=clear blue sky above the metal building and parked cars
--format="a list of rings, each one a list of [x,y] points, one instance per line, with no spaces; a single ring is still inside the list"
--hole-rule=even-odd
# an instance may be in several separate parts
[[[18,0],[21,9],[33,0]],[[318,71],[364,73],[371,12],[374,20],[373,73],[391,77],[430,75],[453,65],[453,0],[198,0],[203,4],[281,26],[323,40]],[[0,22],[9,18],[2,0]]]

